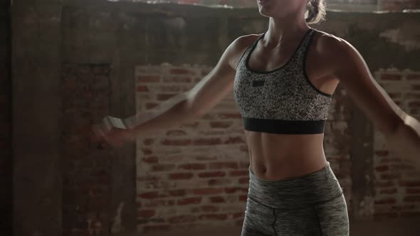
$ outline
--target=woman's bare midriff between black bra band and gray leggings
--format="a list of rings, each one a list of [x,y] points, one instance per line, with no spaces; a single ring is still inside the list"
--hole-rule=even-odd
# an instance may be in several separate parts
[[[245,130],[251,171],[266,180],[283,180],[319,171],[327,164],[324,134],[270,134]]]

